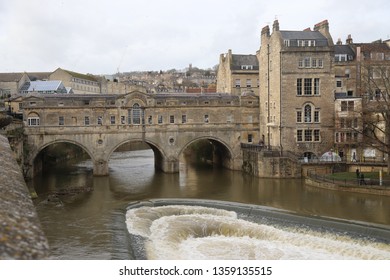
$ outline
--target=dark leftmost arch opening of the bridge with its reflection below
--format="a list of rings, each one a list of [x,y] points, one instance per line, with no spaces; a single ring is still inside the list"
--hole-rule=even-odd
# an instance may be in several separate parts
[[[31,191],[39,198],[62,204],[93,189],[93,164],[84,147],[71,142],[52,142],[32,162]]]

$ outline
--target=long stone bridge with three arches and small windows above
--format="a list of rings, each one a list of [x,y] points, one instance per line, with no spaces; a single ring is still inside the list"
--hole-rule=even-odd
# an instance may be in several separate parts
[[[112,153],[142,141],[154,151],[155,166],[178,172],[192,143],[208,139],[214,160],[240,170],[241,143],[259,141],[259,99],[253,94],[30,95],[23,99],[25,175],[34,176],[40,152],[54,143],[80,146],[94,175],[108,175]]]

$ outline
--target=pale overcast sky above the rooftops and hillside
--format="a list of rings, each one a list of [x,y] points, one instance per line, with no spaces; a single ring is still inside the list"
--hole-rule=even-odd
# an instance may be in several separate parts
[[[389,15],[388,0],[0,0],[0,72],[212,68],[228,49],[255,54],[275,18],[371,42],[389,39]]]

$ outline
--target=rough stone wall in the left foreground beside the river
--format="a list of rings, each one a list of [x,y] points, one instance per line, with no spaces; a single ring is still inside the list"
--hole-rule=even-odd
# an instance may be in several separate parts
[[[0,259],[46,259],[47,239],[8,139],[0,135]]]

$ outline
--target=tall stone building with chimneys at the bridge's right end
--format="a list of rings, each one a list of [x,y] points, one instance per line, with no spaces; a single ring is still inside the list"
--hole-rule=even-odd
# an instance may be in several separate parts
[[[333,40],[328,21],[314,30],[262,29],[260,134],[268,147],[320,157],[334,142]]]

